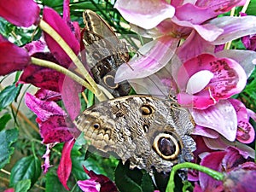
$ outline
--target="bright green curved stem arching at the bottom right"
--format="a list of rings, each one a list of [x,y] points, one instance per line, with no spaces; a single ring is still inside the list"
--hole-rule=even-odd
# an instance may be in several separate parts
[[[224,174],[221,172],[216,172],[206,166],[199,166],[195,163],[190,163],[190,162],[185,162],[185,163],[180,163],[177,164],[176,166],[172,167],[172,172],[170,174],[169,182],[167,184],[166,192],[173,192],[175,188],[175,183],[174,183],[174,175],[179,169],[184,169],[184,168],[189,168],[189,169],[195,169],[200,172],[207,173],[207,175],[211,176],[212,178],[222,181],[224,179]]]

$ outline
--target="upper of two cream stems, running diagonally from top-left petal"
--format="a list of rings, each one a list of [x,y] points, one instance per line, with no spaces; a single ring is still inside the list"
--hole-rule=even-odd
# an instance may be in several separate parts
[[[73,63],[79,68],[79,72],[84,76],[84,79],[88,81],[90,84],[90,90],[95,93],[96,97],[99,101],[106,100],[106,96],[102,94],[102,90],[100,90],[95,83],[94,79],[90,77],[90,74],[87,72],[87,70],[84,68],[83,63],[79,60],[77,55],[73,52],[73,49],[71,49],[68,44],[64,41],[63,38],[59,35],[58,32],[55,32],[55,29],[49,26],[47,22],[44,20],[40,20],[39,25],[40,28],[49,34],[49,36],[53,39],[55,39],[55,42],[57,42],[61,48],[67,53],[67,55],[70,57],[70,59],[73,61]],[[86,88],[88,88],[86,86]],[[89,88],[88,88],[89,89]]]

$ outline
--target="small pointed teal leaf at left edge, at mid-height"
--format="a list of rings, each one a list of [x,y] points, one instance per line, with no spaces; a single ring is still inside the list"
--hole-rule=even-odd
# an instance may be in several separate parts
[[[3,108],[6,108],[7,106],[9,106],[10,103],[14,102],[19,92],[20,92],[20,84],[18,86],[16,86],[15,84],[12,84],[5,87],[0,92],[0,111]]]

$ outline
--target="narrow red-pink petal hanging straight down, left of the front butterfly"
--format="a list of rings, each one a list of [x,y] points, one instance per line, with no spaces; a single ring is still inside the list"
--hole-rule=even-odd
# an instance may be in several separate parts
[[[58,166],[57,174],[65,189],[69,190],[67,186],[67,180],[72,170],[72,160],[70,157],[71,150],[73,148],[73,144],[75,140],[70,140],[65,143],[61,152],[61,162]]]

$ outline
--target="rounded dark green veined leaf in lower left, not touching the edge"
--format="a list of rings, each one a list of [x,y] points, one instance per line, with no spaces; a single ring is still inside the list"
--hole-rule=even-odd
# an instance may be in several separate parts
[[[32,185],[38,181],[42,172],[41,162],[34,155],[23,157],[15,163],[10,176],[10,186],[24,179],[30,179]]]

